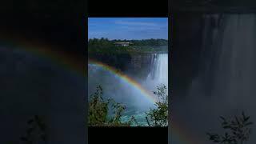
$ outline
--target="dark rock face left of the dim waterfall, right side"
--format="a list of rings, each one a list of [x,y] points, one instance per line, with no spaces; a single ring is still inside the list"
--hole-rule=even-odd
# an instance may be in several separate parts
[[[186,87],[198,73],[204,18],[203,14],[177,14],[174,17],[170,83],[174,94],[186,95]]]

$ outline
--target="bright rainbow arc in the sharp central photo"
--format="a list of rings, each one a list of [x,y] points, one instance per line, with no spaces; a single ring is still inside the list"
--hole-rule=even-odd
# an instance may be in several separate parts
[[[150,94],[148,90],[145,90],[138,82],[136,82],[134,79],[130,78],[126,74],[123,74],[120,70],[116,70],[114,69],[114,67],[108,66],[105,63],[98,62],[93,59],[89,59],[88,63],[100,66],[102,67],[102,69],[107,70],[114,75],[117,75],[124,82],[130,84],[130,86],[133,86],[134,89],[139,90],[142,93],[142,95],[144,95],[147,99],[150,100],[150,102],[152,103],[158,102],[158,99],[154,97],[154,95]]]

